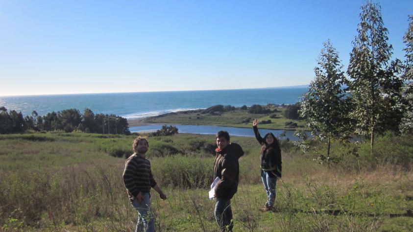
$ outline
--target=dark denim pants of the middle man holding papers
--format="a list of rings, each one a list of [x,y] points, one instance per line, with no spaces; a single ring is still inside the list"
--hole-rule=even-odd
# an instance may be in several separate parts
[[[217,198],[215,205],[215,219],[221,231],[232,231],[234,224],[232,223],[231,200]]]

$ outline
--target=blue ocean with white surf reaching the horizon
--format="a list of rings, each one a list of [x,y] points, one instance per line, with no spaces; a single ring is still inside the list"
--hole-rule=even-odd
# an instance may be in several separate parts
[[[89,108],[95,114],[115,114],[126,118],[156,116],[182,110],[204,109],[214,105],[251,106],[294,104],[306,87],[243,90],[176,91],[146,93],[91,93],[37,96],[0,96],[0,107],[40,116],[52,111]]]

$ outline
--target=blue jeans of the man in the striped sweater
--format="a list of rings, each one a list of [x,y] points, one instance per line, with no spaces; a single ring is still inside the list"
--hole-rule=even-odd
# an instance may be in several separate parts
[[[153,214],[150,210],[150,196],[148,192],[142,193],[144,199],[139,203],[136,199],[133,199],[132,206],[139,213],[138,223],[136,224],[135,232],[154,232],[155,225]]]

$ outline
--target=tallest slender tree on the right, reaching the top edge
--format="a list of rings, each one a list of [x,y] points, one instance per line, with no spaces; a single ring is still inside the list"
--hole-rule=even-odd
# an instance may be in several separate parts
[[[355,108],[351,117],[356,121],[355,132],[370,136],[370,153],[373,154],[375,135],[389,128],[389,120],[397,120],[388,116],[395,113],[390,112],[395,109],[390,104],[397,102],[397,94],[392,93],[398,93],[400,80],[394,74],[397,62],[391,64],[394,69],[389,66],[393,48],[387,43],[389,32],[384,26],[380,6],[368,1],[361,10],[347,73],[352,79],[350,91]],[[390,123],[394,124],[397,122]]]

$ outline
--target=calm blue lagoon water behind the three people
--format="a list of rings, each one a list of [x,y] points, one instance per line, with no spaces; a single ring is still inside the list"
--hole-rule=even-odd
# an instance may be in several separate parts
[[[254,137],[254,131],[251,128],[238,128],[238,127],[226,127],[226,126],[210,126],[210,125],[174,125],[178,128],[179,133],[188,134],[203,134],[203,135],[215,135],[220,130],[228,131],[230,136],[243,136],[243,137]],[[162,125],[146,125],[146,126],[133,126],[129,127],[130,132],[150,132],[156,131],[162,128]],[[278,137],[284,130],[269,130],[260,129],[261,136],[267,134],[267,132],[272,132],[276,137]],[[281,139],[298,140],[293,136],[294,131],[285,131],[286,137]],[[310,132],[307,132],[310,136]]]

